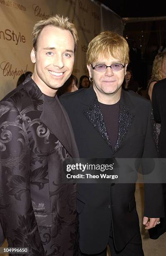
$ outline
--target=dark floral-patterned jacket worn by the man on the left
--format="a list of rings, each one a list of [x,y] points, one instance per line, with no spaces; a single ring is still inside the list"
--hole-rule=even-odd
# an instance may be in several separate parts
[[[78,150],[65,110],[27,77],[0,102],[0,245],[7,238],[28,247],[26,256],[77,255],[76,185],[62,183],[71,157]]]

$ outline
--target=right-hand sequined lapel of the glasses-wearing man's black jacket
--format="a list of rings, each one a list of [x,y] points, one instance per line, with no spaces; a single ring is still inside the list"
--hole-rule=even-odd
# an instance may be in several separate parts
[[[131,112],[133,109],[133,104],[127,95],[127,92],[122,91],[119,109],[119,123],[118,123],[118,136],[115,144],[113,154],[119,149],[124,138],[129,131],[129,128],[134,120],[134,114]]]

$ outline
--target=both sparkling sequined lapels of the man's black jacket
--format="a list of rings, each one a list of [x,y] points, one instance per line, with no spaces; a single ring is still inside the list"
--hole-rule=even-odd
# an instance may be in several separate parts
[[[84,115],[89,122],[94,126],[96,131],[104,138],[111,148],[111,142],[107,133],[106,125],[103,120],[102,112],[99,108],[96,94],[93,87],[86,89],[82,104],[87,105],[88,108],[84,110]],[[122,90],[119,108],[119,123],[118,136],[113,154],[119,149],[124,141],[126,134],[134,120],[134,105],[130,100],[129,92]]]

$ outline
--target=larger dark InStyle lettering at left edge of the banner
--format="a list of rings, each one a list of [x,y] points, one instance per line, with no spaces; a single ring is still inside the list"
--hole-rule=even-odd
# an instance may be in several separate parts
[[[21,32],[17,34],[13,30],[11,31],[10,29],[5,29],[5,31],[0,31],[0,39],[13,41],[15,42],[15,45],[17,45],[18,43],[26,42],[25,36],[21,35]]]

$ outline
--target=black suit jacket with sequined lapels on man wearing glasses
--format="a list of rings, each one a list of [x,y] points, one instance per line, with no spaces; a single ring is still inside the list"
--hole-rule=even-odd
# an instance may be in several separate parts
[[[60,101],[72,123],[80,158],[157,157],[149,100],[134,92],[122,92],[114,149],[111,148],[93,87],[62,95]],[[139,232],[135,184],[77,184],[77,192],[79,246],[83,253],[104,250],[111,225],[118,251]],[[145,184],[144,216],[163,215],[162,186]]]

